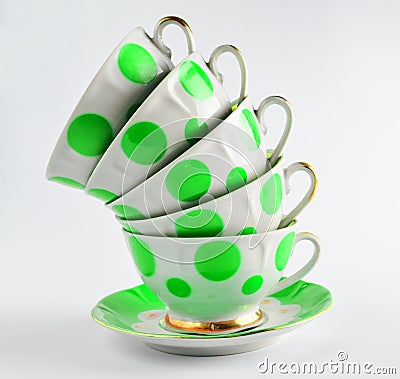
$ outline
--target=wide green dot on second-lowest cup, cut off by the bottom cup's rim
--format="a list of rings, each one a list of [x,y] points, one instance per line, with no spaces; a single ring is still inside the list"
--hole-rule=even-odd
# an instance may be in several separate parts
[[[191,211],[175,221],[178,237],[214,237],[224,229],[222,218],[207,209]]]

